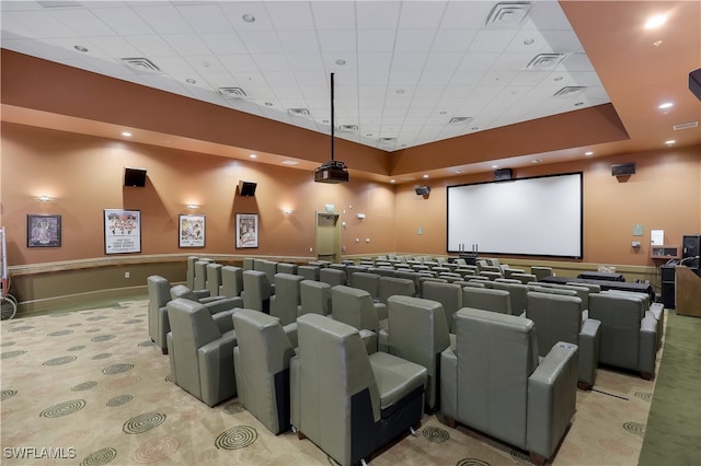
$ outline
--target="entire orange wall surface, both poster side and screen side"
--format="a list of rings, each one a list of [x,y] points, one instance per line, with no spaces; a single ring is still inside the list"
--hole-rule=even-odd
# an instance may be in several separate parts
[[[347,255],[387,252],[446,254],[446,186],[483,182],[491,173],[428,180],[430,196],[414,185],[375,183],[352,176],[348,184],[313,183],[311,173],[202,153],[2,124],[2,223],[8,231],[9,265],[42,264],[104,256],[102,212],[138,209],[142,254],[260,254],[311,257],[314,212],[333,203],[346,226]],[[635,162],[625,183],[611,176],[612,163]],[[148,170],[146,188],[122,186],[123,166]],[[519,168],[517,177],[584,172],[584,261],[654,265],[650,230],[665,230],[666,243],[701,233],[701,151],[667,149],[558,165]],[[257,183],[254,198],[235,196],[239,179]],[[56,199],[39,202],[36,196]],[[177,215],[202,206],[204,249],[177,247]],[[281,209],[294,212],[286,217]],[[260,247],[235,249],[235,212],[260,213]],[[359,220],[356,213],[365,213]],[[26,247],[26,214],[62,215],[62,246]],[[632,226],[644,225],[644,236]],[[418,234],[422,229],[423,234]],[[356,243],[356,238],[358,242]],[[366,242],[369,238],[369,242]],[[632,241],[643,247],[635,251]]]

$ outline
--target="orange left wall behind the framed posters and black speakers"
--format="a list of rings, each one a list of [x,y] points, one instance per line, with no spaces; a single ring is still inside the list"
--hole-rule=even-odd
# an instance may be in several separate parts
[[[314,212],[326,203],[347,224],[342,230],[347,254],[392,251],[395,244],[394,187],[355,176],[347,184],[319,184],[308,171],[5,123],[1,149],[10,266],[104,256],[103,209],[113,208],[141,211],[142,254],[311,257]],[[125,165],[147,168],[146,188],[123,187]],[[257,183],[255,197],[235,195],[240,179]],[[43,194],[55,200],[38,201]],[[200,208],[189,210],[188,203]],[[294,212],[285,215],[281,209]],[[234,248],[235,212],[260,214],[258,248]],[[356,212],[366,219],[356,219]],[[61,247],[27,248],[27,213],[60,214]],[[181,213],[206,215],[205,248],[179,248]]]

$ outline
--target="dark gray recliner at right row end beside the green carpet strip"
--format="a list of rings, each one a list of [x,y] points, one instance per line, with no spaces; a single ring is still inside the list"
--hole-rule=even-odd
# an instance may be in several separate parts
[[[639,371],[645,380],[655,376],[657,321],[645,313],[640,299],[589,294],[589,318],[601,322],[599,363]]]

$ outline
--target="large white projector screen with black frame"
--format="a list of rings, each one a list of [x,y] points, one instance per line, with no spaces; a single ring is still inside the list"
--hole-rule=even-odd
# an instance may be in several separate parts
[[[448,186],[448,253],[583,257],[582,172]]]

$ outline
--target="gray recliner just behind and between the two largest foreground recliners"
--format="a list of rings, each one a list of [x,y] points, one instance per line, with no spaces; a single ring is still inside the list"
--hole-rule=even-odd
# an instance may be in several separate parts
[[[450,347],[446,313],[437,301],[413,296],[388,300],[387,352],[426,368],[426,412],[439,408],[440,353]]]

